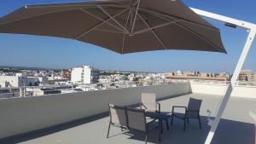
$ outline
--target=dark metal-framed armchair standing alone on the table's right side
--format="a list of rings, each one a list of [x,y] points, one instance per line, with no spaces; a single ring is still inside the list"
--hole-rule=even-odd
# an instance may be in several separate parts
[[[172,122],[173,124],[173,117],[183,119],[184,125],[183,130],[186,130],[186,122],[189,124],[189,118],[197,118],[199,121],[199,127],[201,129],[201,116],[200,116],[200,108],[201,108],[202,100],[189,98],[189,105],[188,107],[180,107],[180,106],[173,106],[172,107]],[[185,113],[177,113],[174,112],[176,108],[184,108]]]

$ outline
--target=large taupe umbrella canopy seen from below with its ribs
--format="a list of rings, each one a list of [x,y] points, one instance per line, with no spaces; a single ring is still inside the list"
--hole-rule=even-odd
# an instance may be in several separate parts
[[[67,37],[120,54],[186,49],[226,53],[218,28],[179,0],[105,0],[22,7],[0,32]]]

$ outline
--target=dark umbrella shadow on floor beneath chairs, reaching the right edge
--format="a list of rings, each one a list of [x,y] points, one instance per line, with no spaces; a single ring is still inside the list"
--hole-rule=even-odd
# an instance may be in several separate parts
[[[198,121],[190,120],[187,130],[183,131],[183,121],[175,119],[174,124],[170,130],[166,130],[164,126],[164,134],[161,135],[162,141],[158,141],[158,130],[155,130],[157,124],[149,126],[148,142],[160,144],[204,144],[210,126],[207,125],[207,118],[202,117],[202,129],[199,129]],[[144,141],[143,133],[137,131],[128,131],[131,135],[130,139],[137,141]],[[247,124],[227,119],[221,119],[218,125],[212,144],[255,144],[255,125]]]

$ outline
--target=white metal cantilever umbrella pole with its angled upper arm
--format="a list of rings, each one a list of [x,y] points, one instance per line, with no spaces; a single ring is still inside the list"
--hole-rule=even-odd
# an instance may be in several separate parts
[[[214,120],[210,121],[209,124],[211,125],[211,130],[209,132],[209,134],[207,135],[207,140],[205,141],[205,144],[210,144],[213,138],[213,135],[215,134],[215,131],[218,128],[218,123],[220,121],[220,118],[222,117],[223,113],[224,113],[224,109],[227,106],[228,101],[230,100],[230,95],[232,94],[233,89],[235,88],[235,84],[236,84],[236,79],[239,76],[239,73],[241,72],[241,68],[244,64],[244,61],[247,58],[247,54],[249,52],[249,49],[252,46],[253,43],[253,39],[255,37],[256,34],[256,25],[253,23],[249,23],[247,21],[242,21],[242,20],[236,20],[236,19],[232,19],[230,17],[226,17],[223,15],[219,15],[219,14],[213,14],[207,11],[203,11],[200,9],[194,9],[194,8],[190,8],[192,9],[196,14],[200,14],[202,16],[208,17],[208,18],[212,18],[214,20],[219,20],[219,21],[223,21],[225,22],[227,25],[236,27],[236,26],[241,26],[247,29],[248,36],[247,36],[247,41],[242,49],[240,58],[236,64],[236,69],[233,73],[233,76],[231,78],[231,82],[228,86],[228,89],[226,89],[225,94],[224,94],[224,98],[220,103],[220,106],[218,107],[218,112],[216,115],[216,118],[214,118]]]

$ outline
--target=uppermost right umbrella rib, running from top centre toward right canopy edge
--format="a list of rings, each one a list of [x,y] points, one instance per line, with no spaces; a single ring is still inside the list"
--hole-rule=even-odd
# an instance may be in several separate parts
[[[157,11],[152,11],[152,10],[143,9],[143,8],[141,8],[141,10],[143,10],[144,12],[150,13],[150,14],[154,14],[155,16],[159,16],[159,17],[160,17],[160,15],[161,15],[162,17],[169,17],[169,18],[172,18],[172,19],[174,18],[174,19],[178,19],[178,20],[183,20],[184,22],[188,22],[188,23],[190,23],[190,24],[194,24],[194,25],[197,25],[197,26],[202,26],[202,27],[211,29],[211,30],[213,30],[213,31],[218,31],[218,29],[216,29],[216,28],[214,28],[214,27],[205,26],[205,25],[200,24],[200,23],[197,23],[197,22],[195,22],[195,21],[190,21],[190,20],[182,19],[182,18],[177,17],[177,16],[174,16],[174,15],[162,14],[162,13],[157,12]],[[168,19],[167,19],[167,20],[168,20]]]

